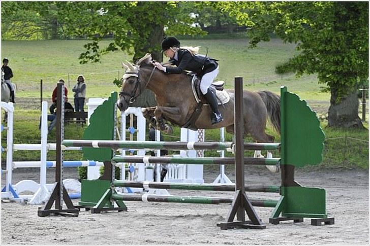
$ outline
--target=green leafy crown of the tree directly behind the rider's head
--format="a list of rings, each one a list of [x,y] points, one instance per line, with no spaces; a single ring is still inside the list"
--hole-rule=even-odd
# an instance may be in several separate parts
[[[81,63],[99,61],[102,55],[118,49],[135,54],[133,60],[136,60],[146,52],[160,51],[165,29],[172,35],[203,32],[192,26],[194,19],[190,15],[177,15],[179,5],[177,2],[69,2],[61,15],[69,23],[67,33],[91,40],[80,56]],[[112,35],[113,41],[101,48],[99,41],[107,35]],[[159,53],[157,56],[162,59]]]

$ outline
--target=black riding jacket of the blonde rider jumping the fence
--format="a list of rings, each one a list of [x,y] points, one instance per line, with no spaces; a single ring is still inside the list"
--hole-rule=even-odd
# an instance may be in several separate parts
[[[184,70],[192,71],[202,77],[217,68],[218,60],[206,57],[204,55],[192,55],[189,50],[179,49],[177,51],[177,60],[171,59],[174,66],[166,66],[166,74],[181,74]]]

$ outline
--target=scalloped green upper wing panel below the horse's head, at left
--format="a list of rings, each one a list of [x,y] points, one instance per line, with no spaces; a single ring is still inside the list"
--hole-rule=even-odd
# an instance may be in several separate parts
[[[117,92],[112,92],[108,100],[95,109],[90,124],[83,133],[85,140],[114,140],[115,110]],[[82,148],[83,159],[109,161],[113,157],[111,149]]]

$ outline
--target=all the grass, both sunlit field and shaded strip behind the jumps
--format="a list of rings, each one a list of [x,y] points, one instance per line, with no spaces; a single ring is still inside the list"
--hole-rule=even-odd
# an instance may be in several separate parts
[[[218,37],[220,38],[220,37]],[[226,88],[233,87],[235,76],[244,78],[244,88],[248,90],[270,90],[280,94],[280,86],[288,86],[289,91],[297,93],[301,99],[309,101],[310,106],[326,113],[329,106],[329,93],[320,92],[322,85],[318,84],[316,75],[305,75],[296,78],[293,74],[280,76],[275,74],[275,66],[292,57],[295,45],[283,44],[281,40],[272,39],[262,42],[255,49],[248,48],[248,39],[239,37],[235,39],[200,39],[180,40],[184,46],[201,46],[200,53],[205,54],[209,48],[208,56],[220,60],[220,73],[218,79],[226,81]],[[103,56],[100,63],[79,64],[78,57],[84,51],[83,45],[87,41],[3,41],[3,57],[10,59],[13,69],[13,82],[17,84],[17,97],[35,99],[40,96],[40,79],[43,80],[44,98],[50,97],[59,78],[63,78],[71,91],[79,74],[83,74],[87,82],[87,97],[108,97],[111,91],[118,88],[113,85],[115,78],[121,77],[124,72],[120,62],[130,60],[131,56],[117,51]],[[101,42],[101,47],[109,41]],[[69,75],[69,76],[68,76]],[[68,78],[70,82],[68,82]],[[69,95],[72,98],[72,94]],[[35,100],[23,100],[26,105],[16,104],[14,123],[14,143],[36,144],[40,143],[38,130],[40,111],[32,110],[29,103]],[[28,103],[28,104],[27,104]],[[318,114],[319,115],[319,114]],[[324,161],[321,167],[356,167],[368,168],[368,130],[332,129],[326,128],[326,121],[322,127],[326,134]],[[365,124],[368,127],[367,124]],[[80,139],[83,127],[75,124],[66,126],[65,138]],[[269,134],[280,140],[280,136],[267,129]],[[347,136],[347,137],[346,137]],[[232,136],[226,134],[226,140],[231,141]],[[345,138],[343,138],[345,137]],[[349,138],[351,137],[351,138]],[[360,140],[356,140],[356,139]],[[2,145],[6,136],[2,136]],[[175,128],[173,136],[165,136],[165,140],[179,140],[179,128]],[[218,141],[219,130],[207,130],[207,141]],[[251,141],[251,138],[246,138]],[[367,142],[366,142],[367,141]],[[48,142],[55,142],[55,129],[49,134]],[[252,156],[253,153],[248,153]],[[217,152],[208,151],[206,156],[219,156]],[[227,156],[231,156],[230,153]],[[279,153],[276,153],[279,156]],[[66,160],[79,160],[82,154],[77,151],[66,152]],[[39,160],[40,153],[35,151],[17,151],[14,160]],[[54,160],[53,151],[48,153],[48,160]],[[2,153],[2,160],[5,154]],[[206,168],[213,168],[207,166]],[[214,167],[218,169],[218,167]]]

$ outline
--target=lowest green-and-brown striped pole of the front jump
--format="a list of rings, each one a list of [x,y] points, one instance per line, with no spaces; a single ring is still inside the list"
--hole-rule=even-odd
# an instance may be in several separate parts
[[[157,196],[157,195],[136,195],[136,194],[112,194],[115,201],[143,201],[143,202],[175,202],[175,203],[200,203],[200,204],[221,204],[232,203],[233,198],[204,197],[204,196]],[[259,207],[275,207],[275,200],[251,200],[252,205]]]

